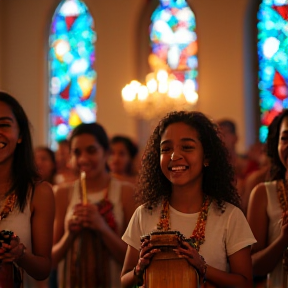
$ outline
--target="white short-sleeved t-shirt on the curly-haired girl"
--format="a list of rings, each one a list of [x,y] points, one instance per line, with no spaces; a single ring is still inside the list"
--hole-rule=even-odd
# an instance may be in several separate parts
[[[242,211],[225,203],[224,213],[212,203],[209,207],[205,229],[205,242],[199,253],[207,264],[222,271],[228,271],[227,257],[256,242]],[[140,206],[136,209],[122,239],[135,249],[140,249],[140,236],[157,230],[161,205],[153,210]],[[171,230],[180,231],[190,237],[198,219],[198,213],[185,214],[169,206]]]

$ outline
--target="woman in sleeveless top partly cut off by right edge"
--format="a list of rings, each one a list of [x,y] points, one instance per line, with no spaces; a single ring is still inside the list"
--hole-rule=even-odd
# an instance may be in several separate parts
[[[267,155],[271,161],[270,181],[251,192],[247,219],[257,239],[252,246],[255,276],[267,278],[267,287],[285,288],[283,254],[288,246],[288,110],[269,126]],[[259,225],[261,223],[261,225]],[[287,273],[287,272],[286,272]],[[286,274],[287,277],[287,274]],[[285,282],[285,283],[284,283]]]

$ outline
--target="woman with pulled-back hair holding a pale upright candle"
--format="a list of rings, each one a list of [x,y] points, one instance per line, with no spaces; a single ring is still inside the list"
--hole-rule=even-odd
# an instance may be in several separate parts
[[[79,180],[55,191],[52,258],[59,286],[120,288],[127,248],[121,235],[135,210],[133,185],[111,177],[109,139],[98,123],[72,131],[70,152]]]

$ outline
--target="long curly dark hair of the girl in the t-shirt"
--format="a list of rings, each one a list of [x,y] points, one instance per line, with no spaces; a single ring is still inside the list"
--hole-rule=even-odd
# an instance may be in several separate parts
[[[203,192],[215,201],[220,210],[224,201],[240,208],[240,196],[235,187],[234,169],[228,151],[219,137],[217,125],[201,112],[174,111],[157,125],[147,142],[139,175],[136,200],[146,208],[153,208],[163,198],[169,198],[172,185],[160,167],[160,141],[172,123],[183,122],[197,130],[209,166],[203,168]]]

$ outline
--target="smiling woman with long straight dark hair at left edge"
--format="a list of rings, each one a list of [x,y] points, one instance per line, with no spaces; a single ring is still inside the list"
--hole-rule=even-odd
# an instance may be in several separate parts
[[[52,188],[37,173],[28,117],[14,97],[0,92],[0,231],[14,233],[10,245],[0,245],[0,274],[13,265],[24,288],[48,277],[54,209]]]

